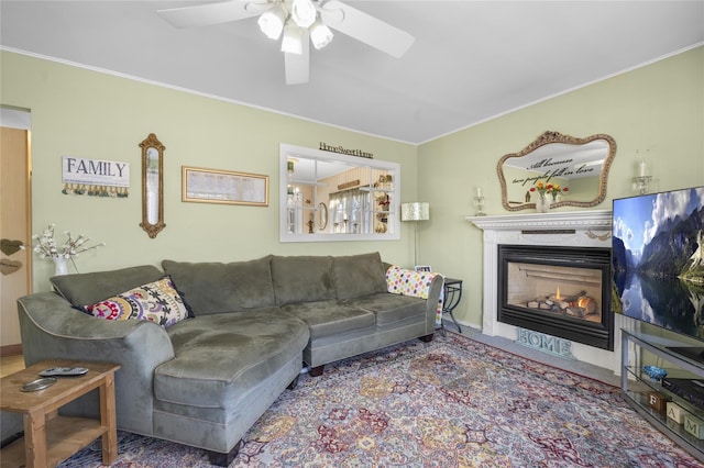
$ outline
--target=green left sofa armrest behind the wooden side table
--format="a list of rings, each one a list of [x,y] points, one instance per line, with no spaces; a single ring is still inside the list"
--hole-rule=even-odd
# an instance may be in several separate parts
[[[152,434],[154,369],[174,358],[174,347],[164,328],[142,320],[97,319],[74,309],[53,292],[19,299],[18,312],[28,366],[52,358],[119,364],[118,427]],[[95,405],[90,402],[80,406],[76,409],[80,415],[99,414],[97,399]]]

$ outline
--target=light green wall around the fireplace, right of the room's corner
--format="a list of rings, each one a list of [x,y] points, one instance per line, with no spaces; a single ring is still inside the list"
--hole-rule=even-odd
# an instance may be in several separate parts
[[[617,144],[606,200],[632,196],[636,151],[648,151],[653,191],[704,185],[704,47],[536,103],[419,147],[419,199],[430,221],[419,229],[419,261],[464,279],[455,316],[482,323],[482,231],[465,220],[481,186],[488,214],[502,207],[496,163],[546,131],[584,137],[612,135]],[[560,210],[571,210],[562,208]],[[534,210],[526,212],[535,212]]]

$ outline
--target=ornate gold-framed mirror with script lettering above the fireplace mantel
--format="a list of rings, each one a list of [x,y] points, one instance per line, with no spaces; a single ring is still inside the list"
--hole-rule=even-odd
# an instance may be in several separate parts
[[[552,208],[594,207],[606,198],[606,179],[616,141],[600,133],[585,138],[546,132],[519,153],[502,157],[496,168],[502,185],[502,203],[508,211],[536,208],[539,181],[557,183],[563,190]]]

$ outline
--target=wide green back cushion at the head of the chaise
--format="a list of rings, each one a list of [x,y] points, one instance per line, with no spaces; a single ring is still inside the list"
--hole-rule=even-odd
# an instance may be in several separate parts
[[[162,267],[198,316],[275,305],[270,260],[268,256],[230,264],[163,260]]]

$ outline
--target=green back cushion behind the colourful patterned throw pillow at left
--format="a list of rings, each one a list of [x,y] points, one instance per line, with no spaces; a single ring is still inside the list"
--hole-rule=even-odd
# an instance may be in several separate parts
[[[56,292],[76,308],[94,304],[140,285],[157,281],[164,272],[153,265],[110,271],[64,275],[50,278]]]

